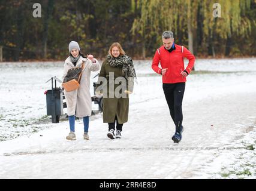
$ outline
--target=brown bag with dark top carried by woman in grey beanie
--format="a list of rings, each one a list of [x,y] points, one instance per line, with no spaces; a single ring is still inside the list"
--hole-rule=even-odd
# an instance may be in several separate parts
[[[74,91],[80,87],[84,64],[83,62],[82,67],[73,67],[68,70],[62,83],[62,87],[64,87],[66,91]]]

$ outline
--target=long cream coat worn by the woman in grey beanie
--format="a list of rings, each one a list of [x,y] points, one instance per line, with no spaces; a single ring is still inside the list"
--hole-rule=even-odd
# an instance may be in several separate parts
[[[77,90],[70,92],[64,90],[67,103],[67,114],[68,116],[76,115],[78,118],[83,118],[92,114],[90,76],[91,71],[97,71],[100,69],[98,60],[96,60],[96,63],[92,63],[91,60],[83,58],[82,56],[80,56],[79,60],[77,61],[76,67],[81,67],[83,61],[85,61],[85,67],[83,69],[80,87]],[[72,67],[74,67],[74,64],[72,63],[71,58],[68,57],[64,63],[64,75],[62,76],[62,80],[67,75],[68,70]]]

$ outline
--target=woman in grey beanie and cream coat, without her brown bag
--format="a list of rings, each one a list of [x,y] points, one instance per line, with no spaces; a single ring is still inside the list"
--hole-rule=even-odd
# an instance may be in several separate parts
[[[76,140],[75,134],[75,119],[83,118],[84,134],[83,138],[89,140],[88,128],[89,128],[89,116],[92,113],[92,98],[90,94],[90,76],[91,71],[97,71],[100,69],[98,60],[92,55],[88,55],[85,58],[80,53],[79,44],[75,41],[71,41],[68,49],[70,56],[65,60],[64,63],[64,75],[65,78],[69,69],[73,67],[82,67],[82,77],[80,81],[80,87],[74,91],[65,91],[65,99],[67,103],[68,121],[70,123],[70,133],[66,137],[68,140]]]

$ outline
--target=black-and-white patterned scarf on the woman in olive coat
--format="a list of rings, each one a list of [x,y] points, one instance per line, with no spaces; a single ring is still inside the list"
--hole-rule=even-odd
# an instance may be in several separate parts
[[[119,57],[112,57],[108,55],[107,60],[112,67],[122,67],[122,75],[125,76],[126,79],[128,79],[129,77],[131,77],[132,80],[133,78],[136,78],[133,61],[130,57],[126,55],[122,55]]]

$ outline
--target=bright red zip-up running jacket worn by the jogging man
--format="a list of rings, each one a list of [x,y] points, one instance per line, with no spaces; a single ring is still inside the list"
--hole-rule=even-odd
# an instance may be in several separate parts
[[[152,69],[161,75],[161,68],[158,67],[159,62],[162,68],[168,68],[165,75],[162,75],[162,83],[164,84],[174,84],[178,82],[186,82],[186,77],[182,76],[180,73],[184,70],[183,57],[188,58],[188,66],[186,67],[186,72],[188,74],[191,72],[192,67],[195,63],[195,56],[185,47],[176,45],[175,50],[171,53],[162,47],[158,48],[155,52],[155,56],[152,61]]]

